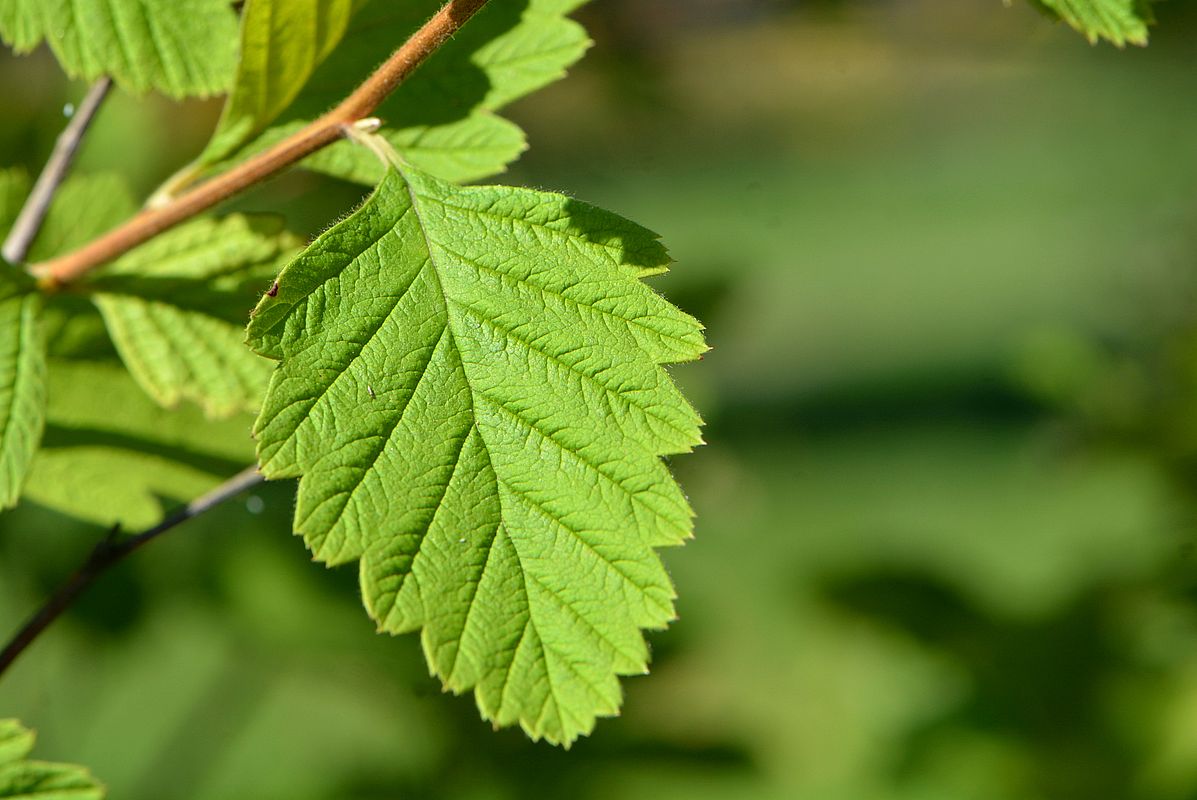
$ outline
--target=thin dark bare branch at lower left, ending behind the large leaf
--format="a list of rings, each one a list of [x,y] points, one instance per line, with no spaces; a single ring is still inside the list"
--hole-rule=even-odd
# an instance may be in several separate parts
[[[215,508],[220,503],[236,497],[260,483],[262,483],[262,475],[259,473],[257,467],[249,467],[220,484],[207,495],[192,501],[148,531],[144,531],[134,537],[121,538],[119,531],[114,529],[108,538],[101,540],[92,549],[91,554],[87,556],[83,566],[77,569],[67,578],[66,583],[59,587],[59,590],[50,595],[42,607],[8,641],[8,644],[0,651],[0,675],[50,626],[50,623],[71,607],[71,604],[83,594],[84,589],[91,586],[96,578],[114,564],[171,528]]]

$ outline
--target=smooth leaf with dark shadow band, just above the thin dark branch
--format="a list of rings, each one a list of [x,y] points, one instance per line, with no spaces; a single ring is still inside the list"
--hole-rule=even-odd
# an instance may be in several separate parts
[[[101,526],[158,522],[254,457],[250,418],[157,406],[116,362],[55,359],[25,499]]]

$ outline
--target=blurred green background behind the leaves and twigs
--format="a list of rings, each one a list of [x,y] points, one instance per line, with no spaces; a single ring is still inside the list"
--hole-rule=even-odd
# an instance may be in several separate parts
[[[596,0],[505,180],[660,231],[712,352],[680,619],[571,751],[492,732],[309,562],[292,486],[108,575],[0,683],[115,799],[1197,796],[1197,8],[1147,49],[1026,4]],[[0,164],[83,86],[0,56]],[[142,193],[215,104],[116,96]],[[312,234],[360,189],[238,201]],[[168,498],[182,501],[187,498]],[[0,517],[5,630],[99,529]]]

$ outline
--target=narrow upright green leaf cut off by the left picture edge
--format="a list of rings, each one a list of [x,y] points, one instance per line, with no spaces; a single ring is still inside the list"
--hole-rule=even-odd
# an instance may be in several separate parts
[[[45,424],[41,297],[0,263],[0,509],[20,497]],[[24,291],[22,291],[24,286]]]

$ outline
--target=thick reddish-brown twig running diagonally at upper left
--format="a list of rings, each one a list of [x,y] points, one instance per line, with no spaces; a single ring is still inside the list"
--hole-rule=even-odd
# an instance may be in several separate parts
[[[340,105],[273,147],[157,208],[147,208],[73,253],[32,267],[45,289],[56,289],[128,253],[164,230],[207,211],[327,147],[348,126],[370,116],[390,92],[457,32],[487,0],[449,0]]]

